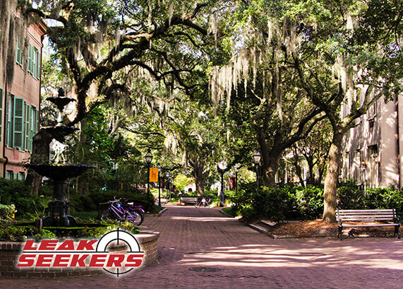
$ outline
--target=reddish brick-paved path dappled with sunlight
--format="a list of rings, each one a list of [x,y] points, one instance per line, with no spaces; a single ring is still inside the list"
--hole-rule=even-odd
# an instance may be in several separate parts
[[[169,207],[160,260],[129,276],[1,280],[0,288],[403,288],[403,240],[273,240],[217,208]]]

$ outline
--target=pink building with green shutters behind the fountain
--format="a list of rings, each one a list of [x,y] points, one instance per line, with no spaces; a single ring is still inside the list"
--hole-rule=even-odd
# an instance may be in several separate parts
[[[41,55],[46,25],[33,23],[27,29],[24,41],[18,39],[19,35],[16,37],[11,83],[7,84],[5,73],[0,73],[0,177],[6,179],[25,178],[23,163],[30,158],[32,137],[39,129]],[[23,53],[23,42],[28,54]],[[0,69],[4,67],[2,61]]]

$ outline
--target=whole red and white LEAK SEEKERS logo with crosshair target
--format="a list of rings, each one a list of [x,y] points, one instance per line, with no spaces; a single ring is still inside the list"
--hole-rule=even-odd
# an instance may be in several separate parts
[[[125,253],[109,252],[109,247],[126,245]],[[25,242],[18,267],[92,267],[102,268],[116,276],[141,265],[144,253],[133,235],[121,230],[105,234],[100,240],[33,240]]]

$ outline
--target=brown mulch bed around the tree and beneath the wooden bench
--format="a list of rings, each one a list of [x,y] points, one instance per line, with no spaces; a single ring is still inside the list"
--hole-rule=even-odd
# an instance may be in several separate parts
[[[357,223],[359,224],[359,223]],[[400,227],[400,236],[403,237],[403,226]],[[345,228],[343,238],[352,234],[354,237],[393,237],[393,227],[365,227]],[[303,220],[293,223],[279,223],[267,229],[267,233],[274,237],[337,237],[337,223],[325,223],[323,220]]]

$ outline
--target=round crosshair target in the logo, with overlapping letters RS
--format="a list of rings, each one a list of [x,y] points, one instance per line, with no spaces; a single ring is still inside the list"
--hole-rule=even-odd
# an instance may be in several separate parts
[[[122,230],[114,230],[105,234],[98,242],[97,249],[98,253],[108,254],[108,247],[114,245],[114,247],[120,247],[126,244],[128,251],[126,254],[112,254],[109,256],[109,261],[107,266],[104,266],[104,270],[108,273],[112,273],[119,276],[124,273],[128,273],[134,269],[134,267],[140,266],[144,253],[140,251],[140,245],[133,235]],[[113,249],[113,248],[112,248]],[[111,266],[112,265],[112,266]]]

